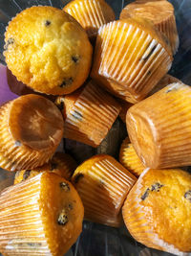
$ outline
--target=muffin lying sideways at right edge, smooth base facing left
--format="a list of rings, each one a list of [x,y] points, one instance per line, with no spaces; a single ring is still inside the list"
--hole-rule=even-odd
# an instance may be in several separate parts
[[[169,84],[127,111],[129,138],[153,169],[191,165],[191,88]]]

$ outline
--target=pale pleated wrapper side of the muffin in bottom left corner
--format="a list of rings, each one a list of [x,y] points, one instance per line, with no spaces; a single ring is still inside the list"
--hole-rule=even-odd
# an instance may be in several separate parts
[[[41,175],[11,186],[0,197],[0,250],[3,255],[51,255],[40,217]]]

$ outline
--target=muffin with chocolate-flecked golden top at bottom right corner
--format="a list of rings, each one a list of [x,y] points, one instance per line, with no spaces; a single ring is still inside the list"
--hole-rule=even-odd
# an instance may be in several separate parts
[[[191,251],[191,175],[145,170],[122,208],[125,224],[141,244],[176,255]]]

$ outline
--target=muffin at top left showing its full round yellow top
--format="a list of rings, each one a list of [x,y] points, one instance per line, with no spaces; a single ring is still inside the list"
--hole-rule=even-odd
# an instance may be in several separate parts
[[[81,26],[53,7],[18,13],[5,34],[4,56],[12,74],[46,94],[68,94],[82,85],[89,75],[92,52]]]

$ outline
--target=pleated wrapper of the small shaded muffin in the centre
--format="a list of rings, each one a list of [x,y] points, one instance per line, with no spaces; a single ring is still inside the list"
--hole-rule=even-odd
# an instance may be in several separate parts
[[[120,105],[89,82],[75,101],[64,124],[64,137],[97,147],[117,119]]]

